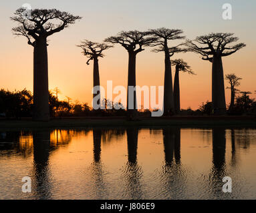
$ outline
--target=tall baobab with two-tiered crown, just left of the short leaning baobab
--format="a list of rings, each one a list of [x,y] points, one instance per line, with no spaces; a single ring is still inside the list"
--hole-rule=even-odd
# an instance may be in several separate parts
[[[168,41],[184,39],[185,37],[182,36],[182,33],[183,31],[180,29],[166,29],[164,27],[150,30],[150,34],[156,39],[150,46],[158,47],[153,51],[155,53],[164,52],[164,115],[170,113],[174,114],[175,112],[170,57],[172,57],[174,53],[186,51],[186,49],[181,48],[183,44],[169,47]]]

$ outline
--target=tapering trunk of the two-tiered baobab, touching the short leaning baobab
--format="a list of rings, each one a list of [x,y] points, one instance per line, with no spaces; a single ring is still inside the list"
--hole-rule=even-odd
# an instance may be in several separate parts
[[[174,98],[172,91],[172,67],[170,65],[170,53],[168,48],[165,51],[164,59],[164,115],[174,114]]]

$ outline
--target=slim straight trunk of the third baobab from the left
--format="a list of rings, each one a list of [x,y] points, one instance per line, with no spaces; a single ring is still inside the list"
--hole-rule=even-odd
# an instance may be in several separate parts
[[[134,119],[136,118],[136,115],[137,115],[136,90],[129,89],[129,87],[133,87],[133,88],[136,87],[136,53],[129,53],[128,93],[127,93],[128,118]],[[132,98],[132,93],[133,93],[133,98]],[[129,100],[129,97],[130,97],[130,100]],[[132,101],[132,103],[130,103],[130,101]]]

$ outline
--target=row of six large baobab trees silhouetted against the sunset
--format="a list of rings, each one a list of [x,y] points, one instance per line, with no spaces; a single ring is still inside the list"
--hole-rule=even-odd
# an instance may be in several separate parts
[[[27,38],[27,43],[33,46],[33,103],[34,120],[49,120],[49,89],[48,89],[48,63],[47,63],[47,37],[62,31],[74,24],[82,17],[71,15],[57,9],[33,9],[26,16],[26,9],[15,11],[11,20],[19,23],[14,27],[14,35]],[[60,21],[59,24],[55,22]],[[116,36],[108,37],[104,43],[82,41],[79,45],[83,54],[88,57],[87,64],[94,61],[94,87],[100,86],[99,57],[104,57],[103,52],[118,44],[124,47],[129,55],[128,61],[128,86],[136,86],[136,55],[144,51],[144,47],[154,47],[154,52],[164,53],[164,115],[175,114],[180,109],[180,95],[178,73],[180,71],[193,74],[190,67],[182,60],[171,61],[176,53],[188,51],[198,53],[203,60],[212,63],[212,102],[215,114],[225,114],[225,88],[223,77],[222,57],[226,57],[245,47],[244,43],[236,43],[239,39],[233,33],[210,33],[197,37],[195,40],[186,40],[179,45],[171,45],[172,41],[185,39],[180,29],[150,29],[149,31],[122,31]],[[172,87],[172,68],[176,65],[174,78],[174,93]],[[98,91],[100,93],[100,91]],[[136,91],[134,93],[133,109],[128,108],[128,116],[136,118]],[[94,97],[98,94],[94,94]],[[129,96],[129,94],[128,94]],[[127,106],[128,106],[127,100]]]

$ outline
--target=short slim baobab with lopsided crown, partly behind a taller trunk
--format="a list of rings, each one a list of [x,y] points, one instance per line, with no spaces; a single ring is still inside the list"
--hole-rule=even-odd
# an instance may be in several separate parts
[[[191,71],[190,66],[183,61],[182,59],[175,59],[171,61],[172,65],[175,66],[175,77],[174,77],[174,88],[173,88],[173,97],[174,97],[174,107],[175,112],[180,112],[180,77],[179,73],[188,73],[191,75],[195,75],[193,71]]]

